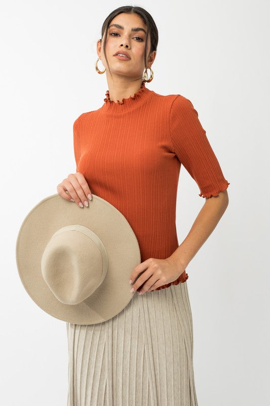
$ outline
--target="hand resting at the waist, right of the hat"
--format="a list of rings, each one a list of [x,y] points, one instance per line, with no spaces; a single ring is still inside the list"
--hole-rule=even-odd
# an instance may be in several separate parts
[[[140,288],[138,292],[143,294],[146,291],[154,290],[159,286],[175,281],[184,270],[180,269],[179,264],[171,257],[166,259],[148,258],[133,269],[130,275],[131,283],[139,274],[141,275],[134,283],[131,291],[135,292]]]

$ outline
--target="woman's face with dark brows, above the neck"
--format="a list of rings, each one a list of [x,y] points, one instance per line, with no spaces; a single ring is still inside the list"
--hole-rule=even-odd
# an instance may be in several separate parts
[[[132,28],[136,28],[136,31],[132,30]],[[121,13],[111,20],[107,32],[106,56],[112,74],[142,78],[142,73],[145,69],[144,47],[146,28],[146,25],[137,14]],[[146,55],[148,55],[149,49],[150,37],[148,38]],[[129,58],[120,59],[114,56],[114,54],[121,53],[121,51],[126,51],[129,54]],[[102,64],[108,71],[107,62],[103,53],[103,39],[102,44],[100,44],[100,41],[97,42],[97,54],[100,55]],[[147,67],[151,66],[155,57],[156,51],[153,51],[151,55],[146,58]]]

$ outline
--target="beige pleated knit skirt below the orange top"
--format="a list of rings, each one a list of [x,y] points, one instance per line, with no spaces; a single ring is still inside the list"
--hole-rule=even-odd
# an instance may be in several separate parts
[[[105,322],[66,327],[67,406],[198,406],[187,282],[135,292]]]

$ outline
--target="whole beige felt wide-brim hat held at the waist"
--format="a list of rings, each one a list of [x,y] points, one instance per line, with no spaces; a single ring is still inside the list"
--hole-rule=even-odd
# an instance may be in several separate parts
[[[26,292],[46,313],[75,324],[120,313],[132,299],[130,274],[141,262],[127,219],[92,196],[84,208],[58,193],[41,200],[24,219],[16,244]]]

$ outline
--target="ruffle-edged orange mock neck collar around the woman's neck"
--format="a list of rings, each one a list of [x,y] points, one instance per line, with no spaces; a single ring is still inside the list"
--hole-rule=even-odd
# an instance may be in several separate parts
[[[150,95],[151,90],[145,87],[145,81],[142,81],[139,90],[134,93],[133,96],[123,98],[122,101],[117,100],[117,102],[109,99],[109,91],[105,93],[104,104],[101,109],[106,113],[123,113],[128,110],[132,110],[138,105],[140,105],[145,99]]]

